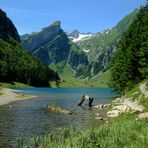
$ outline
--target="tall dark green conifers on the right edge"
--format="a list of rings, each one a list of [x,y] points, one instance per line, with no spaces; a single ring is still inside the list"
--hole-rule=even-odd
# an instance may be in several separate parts
[[[148,78],[148,8],[140,9],[137,18],[124,34],[112,60],[111,75],[119,91],[130,89]]]

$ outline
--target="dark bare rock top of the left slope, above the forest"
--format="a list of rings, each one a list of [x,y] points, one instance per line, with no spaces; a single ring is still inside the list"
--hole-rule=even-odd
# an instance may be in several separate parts
[[[0,9],[0,39],[9,41],[10,38],[20,42],[20,37],[14,24],[6,13]]]

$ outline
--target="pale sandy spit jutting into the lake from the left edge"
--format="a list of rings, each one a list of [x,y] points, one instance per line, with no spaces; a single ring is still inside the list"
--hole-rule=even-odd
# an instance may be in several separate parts
[[[10,88],[0,88],[0,106],[7,105],[12,102],[22,101],[27,99],[36,98],[37,96],[24,95],[19,90],[13,90]]]

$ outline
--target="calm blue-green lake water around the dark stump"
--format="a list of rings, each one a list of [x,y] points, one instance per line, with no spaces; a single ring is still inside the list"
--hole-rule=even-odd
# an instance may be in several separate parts
[[[95,119],[96,110],[85,101],[77,106],[83,94],[94,97],[93,105],[106,103],[116,96],[109,88],[21,88],[24,94],[37,98],[0,106],[0,147],[12,144],[16,137],[44,135],[56,128],[75,126],[91,128],[101,124]],[[72,115],[50,112],[48,104],[70,110]]]

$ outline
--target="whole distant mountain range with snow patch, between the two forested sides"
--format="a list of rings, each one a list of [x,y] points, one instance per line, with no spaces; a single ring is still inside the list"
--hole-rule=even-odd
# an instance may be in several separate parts
[[[96,34],[78,30],[66,34],[56,21],[40,32],[22,36],[22,46],[59,73],[67,66],[76,77],[91,78],[108,68],[121,37],[138,12],[136,9],[114,28]]]

